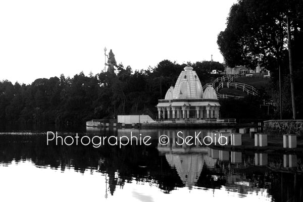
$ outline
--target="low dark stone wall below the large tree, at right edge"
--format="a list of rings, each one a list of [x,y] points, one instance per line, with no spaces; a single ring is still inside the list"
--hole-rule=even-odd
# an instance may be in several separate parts
[[[264,121],[263,131],[265,133],[296,134],[303,136],[303,120]]]

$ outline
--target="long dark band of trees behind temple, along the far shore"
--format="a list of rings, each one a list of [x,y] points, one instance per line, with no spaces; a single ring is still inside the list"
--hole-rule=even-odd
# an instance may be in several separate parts
[[[174,85],[187,64],[168,60],[157,67],[133,72],[120,64],[116,74],[99,73],[73,78],[36,79],[29,85],[0,82],[2,123],[83,123],[90,119],[113,119],[124,114],[148,114],[156,118],[158,99]],[[210,72],[223,70],[218,62],[190,64],[202,84],[210,82]]]

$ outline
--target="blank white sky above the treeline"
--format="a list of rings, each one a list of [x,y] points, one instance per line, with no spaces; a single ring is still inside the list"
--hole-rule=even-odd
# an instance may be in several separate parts
[[[104,47],[133,70],[162,60],[223,62],[217,35],[236,0],[0,1],[0,80],[88,75]]]

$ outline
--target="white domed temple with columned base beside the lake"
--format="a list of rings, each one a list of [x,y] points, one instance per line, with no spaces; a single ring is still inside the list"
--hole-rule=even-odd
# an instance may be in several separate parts
[[[157,108],[159,119],[218,119],[220,104],[214,88],[209,85],[203,92],[196,72],[187,65]]]

